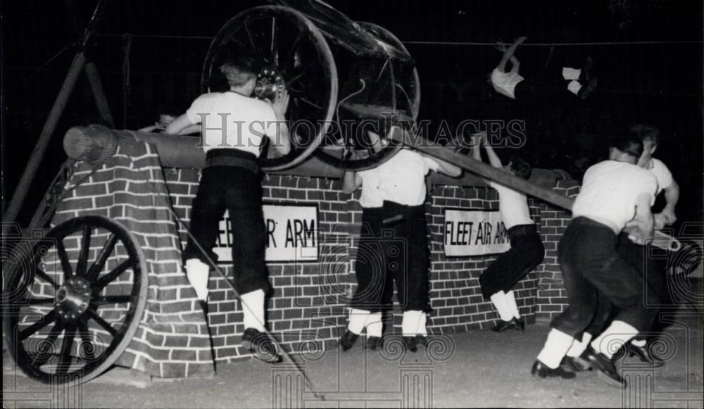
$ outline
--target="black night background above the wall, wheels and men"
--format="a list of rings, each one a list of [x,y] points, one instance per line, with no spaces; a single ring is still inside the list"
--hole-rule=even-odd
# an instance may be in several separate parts
[[[2,1],[3,207],[15,189],[46,115],[75,54],[78,25],[94,1]],[[702,3],[701,1],[329,1],[353,20],[396,34],[416,60],[422,85],[420,119],[457,124],[463,119],[524,118],[522,154],[536,168],[564,169],[579,178],[605,154],[610,132],[628,122],[660,128],[656,157],[682,187],[681,222],[702,219]],[[96,62],[118,129],[151,125],[160,107],[184,111],[200,92],[210,38],[235,14],[261,1],[111,1],[89,56]],[[125,65],[122,34],[132,42]],[[517,56],[529,80],[541,77],[550,56],[592,56],[597,91],[586,101],[555,96],[549,104],[516,103],[493,93],[486,74],[500,54],[491,46],[413,42],[527,43],[671,42],[522,46]],[[189,38],[191,37],[191,38]],[[63,52],[58,51],[69,46]],[[50,58],[56,56],[56,58]],[[49,61],[49,63],[47,63]],[[125,93],[125,68],[130,88]],[[569,96],[569,95],[568,95]],[[98,118],[84,75],[77,82],[47,151],[20,222],[26,222],[65,160],[61,139],[73,125]]]

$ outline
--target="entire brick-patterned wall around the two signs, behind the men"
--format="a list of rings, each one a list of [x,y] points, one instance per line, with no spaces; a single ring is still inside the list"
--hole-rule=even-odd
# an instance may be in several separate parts
[[[177,262],[187,235],[182,226],[171,220],[165,207],[170,204],[186,224],[189,222],[199,171],[162,170],[149,145],[135,144],[130,149],[126,152],[120,146],[110,163],[77,187],[72,197],[61,203],[54,222],[81,214],[103,214],[126,223],[140,238],[150,265],[149,303],[120,365],[162,377],[207,373],[211,367],[205,365],[210,362],[205,319]],[[88,172],[87,165],[82,165],[72,182]],[[146,184],[134,182],[144,180],[144,175],[135,172],[144,173],[157,187],[161,201],[154,201],[157,196],[148,194]],[[303,351],[310,342],[334,347],[346,325],[346,306],[356,287],[353,260],[361,221],[359,192],[344,194],[339,180],[288,175],[266,175],[263,188],[265,203],[317,205],[320,229],[318,262],[268,264],[274,287],[273,296],[268,298],[268,326],[289,351]],[[579,188],[574,182],[563,182],[557,189],[572,195]],[[498,210],[496,191],[488,187],[435,186],[429,193],[426,213],[433,308],[429,330],[449,333],[490,327],[498,315],[491,303],[482,298],[479,275],[495,256],[446,258],[442,247],[443,211],[445,207]],[[516,287],[521,313],[532,323],[536,319],[548,320],[564,307],[556,250],[569,214],[533,199],[529,206],[546,246],[544,263]],[[150,239],[155,226],[160,226],[158,242]],[[220,267],[227,275],[232,274],[227,263]],[[241,306],[222,277],[213,272],[210,280],[208,318],[215,359],[246,358],[249,354],[239,345],[244,331]],[[385,320],[386,332],[400,331],[400,311]]]

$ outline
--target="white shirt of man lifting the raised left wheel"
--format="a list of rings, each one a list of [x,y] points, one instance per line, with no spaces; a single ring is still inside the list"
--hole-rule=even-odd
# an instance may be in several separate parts
[[[265,135],[276,136],[277,120],[266,102],[237,94],[212,92],[199,96],[186,111],[189,121],[203,121],[203,150],[240,149],[259,157]]]

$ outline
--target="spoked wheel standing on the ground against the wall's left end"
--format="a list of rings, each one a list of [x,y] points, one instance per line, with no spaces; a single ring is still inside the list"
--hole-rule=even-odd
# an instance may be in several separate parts
[[[146,261],[132,234],[82,216],[13,255],[4,331],[18,367],[40,382],[79,384],[113,365],[146,306]]]

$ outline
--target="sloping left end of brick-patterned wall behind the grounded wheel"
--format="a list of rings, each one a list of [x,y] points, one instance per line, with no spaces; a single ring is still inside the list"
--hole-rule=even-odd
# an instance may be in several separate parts
[[[149,272],[144,317],[118,364],[159,377],[212,375],[205,319],[180,266],[180,237],[168,210],[171,200],[153,146],[137,142],[120,144],[115,156],[95,172],[80,163],[68,187],[77,183],[59,203],[52,225],[81,215],[106,216],[134,234]],[[99,251],[106,239],[107,234],[94,237],[92,251]],[[77,236],[65,240],[74,265],[79,241]],[[125,251],[118,246],[115,254]],[[117,256],[108,260],[104,271],[114,268],[122,259]],[[132,277],[120,276],[120,279],[131,282]],[[101,314],[110,321],[111,317],[106,316],[110,313],[111,310],[106,310]],[[120,315],[114,318],[119,319]]]

